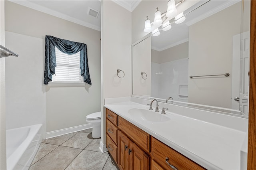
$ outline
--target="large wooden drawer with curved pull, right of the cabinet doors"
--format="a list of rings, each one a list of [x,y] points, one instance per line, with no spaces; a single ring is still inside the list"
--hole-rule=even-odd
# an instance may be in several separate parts
[[[154,159],[160,166],[164,169],[172,170],[172,166],[176,167],[178,170],[190,169],[190,170],[202,170],[202,166],[196,164],[192,160],[186,158],[176,150],[170,148],[169,146],[163,144],[156,138],[151,138],[151,153],[152,159]],[[166,160],[168,158],[168,160]],[[168,163],[167,163],[167,162]]]

